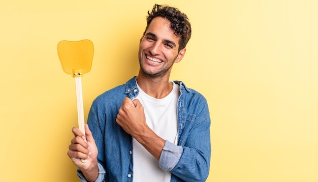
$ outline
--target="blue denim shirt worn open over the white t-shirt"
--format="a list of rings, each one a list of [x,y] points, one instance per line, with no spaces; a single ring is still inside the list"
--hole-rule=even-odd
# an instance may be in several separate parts
[[[206,99],[183,82],[179,84],[178,144],[166,140],[159,159],[160,167],[171,172],[171,181],[205,181],[209,174],[210,114]],[[97,97],[87,123],[98,147],[99,176],[96,181],[133,181],[133,142],[117,123],[124,97],[139,93],[136,77]],[[81,181],[86,181],[78,169]]]

